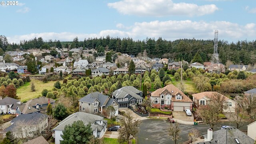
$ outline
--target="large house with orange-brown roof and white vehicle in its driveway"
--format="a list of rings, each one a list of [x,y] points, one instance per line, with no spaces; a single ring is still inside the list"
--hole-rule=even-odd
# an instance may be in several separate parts
[[[192,110],[192,100],[173,84],[155,90],[151,93],[150,99],[153,108],[167,107],[173,111]]]

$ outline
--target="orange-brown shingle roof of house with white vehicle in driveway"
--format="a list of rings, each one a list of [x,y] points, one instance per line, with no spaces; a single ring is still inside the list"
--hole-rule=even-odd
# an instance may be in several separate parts
[[[169,85],[165,86],[164,88],[159,88],[158,90],[152,92],[151,96],[159,97],[160,94],[162,94],[162,92],[164,92],[165,90],[168,90],[170,93],[172,93],[172,91],[173,91],[172,94],[174,94],[174,96],[176,96],[177,94],[182,95],[182,100],[176,100],[175,98],[172,98],[173,102],[192,102],[192,100],[190,100],[190,98],[188,98],[188,96],[186,96],[181,90],[179,90],[173,84],[169,84]]]

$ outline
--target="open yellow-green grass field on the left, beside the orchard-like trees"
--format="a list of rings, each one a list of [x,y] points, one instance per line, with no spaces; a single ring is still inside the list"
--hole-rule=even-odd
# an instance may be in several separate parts
[[[36,88],[35,92],[31,92],[30,90],[32,82],[34,82]],[[56,81],[43,83],[40,80],[31,79],[31,82],[26,82],[23,86],[20,86],[17,89],[17,96],[20,97],[21,102],[30,100],[32,98],[37,98],[39,95],[42,95],[41,92],[43,89],[51,90],[55,82]],[[60,81],[60,83],[62,83],[62,81]]]

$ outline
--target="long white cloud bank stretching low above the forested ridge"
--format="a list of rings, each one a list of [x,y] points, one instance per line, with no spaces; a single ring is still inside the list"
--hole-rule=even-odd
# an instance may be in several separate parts
[[[126,27],[123,24],[118,26]],[[84,38],[94,38],[110,35],[111,37],[131,37],[134,40],[143,40],[146,37],[158,38],[162,37],[166,40],[176,40],[180,38],[196,38],[196,39],[213,39],[214,30],[219,30],[220,40],[254,40],[256,37],[256,24],[249,23],[246,25],[239,25],[236,23],[226,21],[214,22],[193,22],[191,20],[182,21],[152,21],[152,22],[136,22],[129,26],[130,29],[124,30],[102,30],[95,34],[71,33],[71,32],[44,32],[32,33],[26,35],[17,35],[8,37],[9,42],[19,43],[20,40],[30,40],[34,37],[42,37],[44,40],[61,40],[72,41],[76,36],[79,40]],[[231,41],[230,41],[231,42]]]

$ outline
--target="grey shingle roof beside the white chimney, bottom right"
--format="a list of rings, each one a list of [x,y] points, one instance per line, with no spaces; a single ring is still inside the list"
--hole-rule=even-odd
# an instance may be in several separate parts
[[[207,138],[207,134],[203,136]],[[252,138],[235,127],[224,128],[212,132],[212,140],[218,140],[219,144],[237,144],[235,139],[237,139],[240,144],[254,143]],[[200,142],[198,144],[204,144],[204,142]]]

